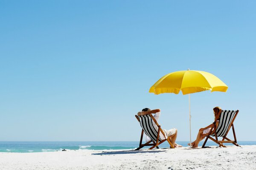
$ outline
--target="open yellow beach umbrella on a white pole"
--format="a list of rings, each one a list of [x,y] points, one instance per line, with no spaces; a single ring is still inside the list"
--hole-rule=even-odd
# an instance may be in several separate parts
[[[159,79],[150,89],[150,93],[174,93],[189,94],[189,128],[191,145],[191,116],[190,116],[190,94],[200,91],[221,91],[226,92],[228,86],[218,77],[205,71],[176,71],[166,74]]]

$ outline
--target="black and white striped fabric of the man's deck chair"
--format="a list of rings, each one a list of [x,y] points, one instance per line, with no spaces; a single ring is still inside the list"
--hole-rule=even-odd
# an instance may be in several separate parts
[[[153,119],[149,115],[138,116],[140,119],[140,126],[143,128],[145,134],[154,142],[157,141],[157,131],[153,126]],[[161,132],[160,132],[161,133]],[[161,142],[163,139],[158,139],[158,142]]]

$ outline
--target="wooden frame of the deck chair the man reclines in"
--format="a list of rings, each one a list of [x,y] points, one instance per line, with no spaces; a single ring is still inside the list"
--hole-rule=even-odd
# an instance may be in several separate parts
[[[141,136],[140,136],[140,145],[139,145],[139,147],[138,147],[137,149],[135,149],[135,150],[139,150],[139,149],[141,149],[141,148],[144,147],[144,146],[152,146],[152,147],[149,148],[149,150],[153,149],[154,147],[157,147],[157,149],[159,149],[158,145],[161,144],[161,143],[163,143],[163,142],[165,142],[165,141],[167,141],[167,142],[170,144],[170,147],[171,147],[171,148],[174,148],[174,146],[173,146],[173,144],[172,144],[172,142],[171,142],[171,137],[174,136],[175,134],[173,134],[172,136],[168,136],[167,138],[165,137],[165,139],[161,139],[161,140],[160,140],[160,132],[163,133],[163,134],[164,134],[164,132],[163,132],[161,126],[157,123],[156,119],[154,119],[154,116],[152,116],[152,114],[148,114],[148,115],[151,117],[152,121],[154,121],[154,123],[155,123],[155,124],[157,125],[157,127],[158,127],[158,130],[157,130],[157,140],[154,141],[154,140],[151,139],[149,142],[146,142],[145,144],[142,144],[143,133],[144,133],[144,130],[143,130],[143,128],[142,128]],[[135,117],[136,117],[136,119],[140,122],[139,116],[135,115]],[[165,135],[164,135],[164,136],[165,136]],[[152,143],[151,143],[151,142],[152,142]]]

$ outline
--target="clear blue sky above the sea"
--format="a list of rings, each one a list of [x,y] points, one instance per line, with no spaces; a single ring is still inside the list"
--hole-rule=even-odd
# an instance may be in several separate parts
[[[227,93],[191,95],[192,140],[212,108],[239,109],[256,141],[256,2],[0,1],[0,141],[138,141],[134,115],[189,140],[188,96],[148,93],[173,71],[219,77]]]

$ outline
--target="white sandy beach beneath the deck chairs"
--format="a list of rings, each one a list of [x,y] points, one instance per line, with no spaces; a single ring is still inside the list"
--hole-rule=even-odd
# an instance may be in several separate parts
[[[256,170],[256,145],[0,153],[0,170]]]

